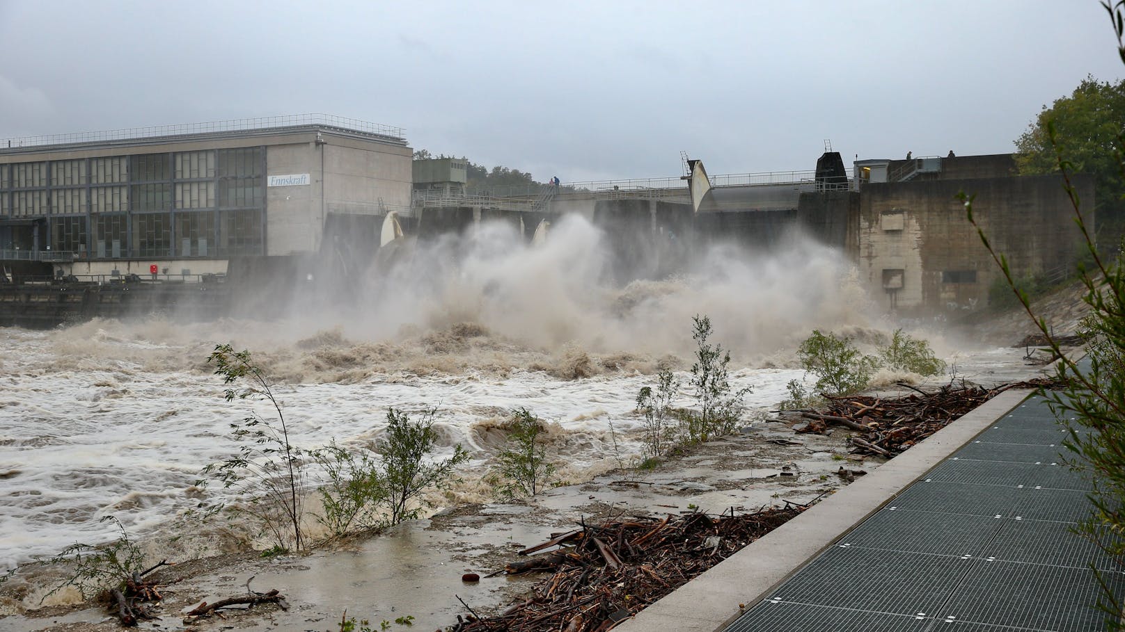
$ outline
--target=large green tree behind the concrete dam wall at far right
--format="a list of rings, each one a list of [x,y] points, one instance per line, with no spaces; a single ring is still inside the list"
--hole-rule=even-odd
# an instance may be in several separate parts
[[[1048,126],[1054,128],[1051,138]],[[1125,133],[1125,80],[1087,75],[1069,97],[1056,99],[1016,141],[1022,174],[1058,173],[1059,159],[1071,173],[1091,173],[1097,200],[1099,246],[1115,247],[1125,229],[1123,180],[1114,144]],[[1088,209],[1089,210],[1089,209]]]

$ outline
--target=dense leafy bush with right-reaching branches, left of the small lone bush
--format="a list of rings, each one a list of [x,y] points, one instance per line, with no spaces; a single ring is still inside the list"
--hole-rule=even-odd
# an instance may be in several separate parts
[[[386,497],[382,506],[387,509],[392,525],[414,520],[430,503],[422,493],[433,486],[442,486],[454,476],[454,468],[469,460],[468,452],[460,444],[453,446],[453,455],[436,462],[428,462],[438,444],[438,433],[433,430],[436,410],[423,413],[422,419],[412,422],[410,416],[390,408],[387,410],[387,434],[379,441],[377,450],[382,453],[382,482]]]

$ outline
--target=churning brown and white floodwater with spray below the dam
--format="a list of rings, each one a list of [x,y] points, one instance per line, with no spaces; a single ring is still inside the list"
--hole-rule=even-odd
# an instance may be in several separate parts
[[[389,407],[412,415],[435,408],[438,457],[460,444],[471,458],[459,482],[431,496],[449,506],[493,499],[482,479],[514,408],[551,422],[548,449],[566,481],[587,481],[634,459],[637,392],[662,368],[686,381],[693,315],[709,315],[711,341],[731,352],[732,388],[753,388],[747,423],[766,416],[786,396],[785,385],[803,378],[794,350],[812,328],[868,346],[893,329],[870,316],[854,272],[822,246],[799,243],[772,255],[717,247],[684,277],[616,287],[602,282],[608,256],[600,238],[580,220],[560,223],[538,249],[502,228],[482,231],[453,249],[465,254],[452,270],[426,268],[424,283],[388,273],[378,296],[352,310],[304,306],[268,322],[153,317],[0,329],[0,571],[75,542],[112,540],[106,516],[155,560],[246,544],[184,517],[230,494],[196,484],[204,467],[237,454],[231,423],[252,414],[276,419],[267,401],[225,400],[207,363],[216,344],[252,352],[300,448],[335,441],[370,449]],[[1012,370],[1022,350],[955,354],[952,343],[933,340],[958,376],[996,383],[1026,372]],[[916,377],[879,380],[901,378]],[[686,388],[677,404],[691,406]],[[728,502],[718,491],[716,502]],[[421,532],[407,529],[364,548],[357,563],[397,565],[418,581],[431,572],[426,565],[452,563],[426,558],[411,567],[400,549],[425,545],[425,536],[411,533]],[[327,575],[326,593],[348,589],[346,572]],[[384,579],[393,577],[404,576]],[[390,590],[385,584],[379,589]]]

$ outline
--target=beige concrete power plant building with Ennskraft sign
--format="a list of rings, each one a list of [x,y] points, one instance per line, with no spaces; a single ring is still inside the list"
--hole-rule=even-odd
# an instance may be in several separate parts
[[[14,138],[0,254],[114,279],[316,253],[335,222],[410,206],[411,157],[402,129],[327,115]]]

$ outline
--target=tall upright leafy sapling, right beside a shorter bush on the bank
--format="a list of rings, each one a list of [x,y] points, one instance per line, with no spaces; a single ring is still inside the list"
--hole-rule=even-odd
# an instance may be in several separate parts
[[[688,441],[706,441],[735,432],[742,414],[742,398],[750,392],[750,387],[731,392],[727,370],[730,352],[723,351],[721,344],[708,342],[712,333],[709,317],[696,314],[692,323],[696,347],[688,383],[695,391],[699,413],[682,412],[680,418]]]

